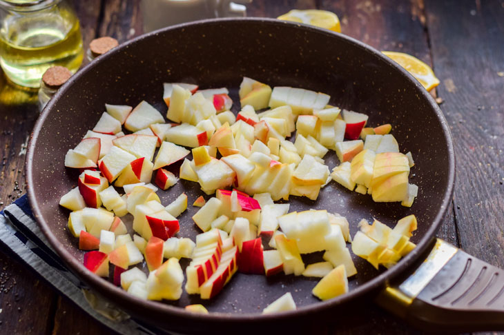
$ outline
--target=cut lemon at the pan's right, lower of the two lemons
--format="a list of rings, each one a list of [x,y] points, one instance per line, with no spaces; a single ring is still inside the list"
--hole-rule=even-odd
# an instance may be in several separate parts
[[[436,78],[436,75],[434,74],[434,71],[432,71],[432,68],[423,61],[420,61],[420,59],[403,52],[382,52],[387,57],[394,59],[394,61],[405,68],[407,72],[411,73],[413,77],[420,81],[425,90],[430,91],[437,85],[439,85],[439,79]]]

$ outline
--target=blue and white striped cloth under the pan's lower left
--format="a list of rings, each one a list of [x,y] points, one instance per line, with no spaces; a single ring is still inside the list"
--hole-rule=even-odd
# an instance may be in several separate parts
[[[32,216],[25,194],[0,212],[0,243],[17,254],[32,272],[99,323],[124,335],[175,334],[130,318],[113,303],[90,292],[50,247]]]

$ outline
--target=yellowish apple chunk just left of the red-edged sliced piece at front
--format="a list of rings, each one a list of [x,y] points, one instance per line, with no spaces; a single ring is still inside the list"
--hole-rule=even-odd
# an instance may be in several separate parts
[[[170,258],[148,275],[148,300],[178,300],[182,296],[184,272],[177,258]]]

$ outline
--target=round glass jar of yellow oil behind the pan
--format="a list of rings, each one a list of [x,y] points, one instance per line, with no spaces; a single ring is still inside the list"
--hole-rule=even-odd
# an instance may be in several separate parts
[[[14,83],[37,88],[51,66],[79,69],[79,20],[66,0],[0,0],[0,20],[0,65]]]

